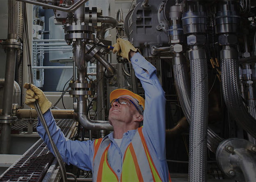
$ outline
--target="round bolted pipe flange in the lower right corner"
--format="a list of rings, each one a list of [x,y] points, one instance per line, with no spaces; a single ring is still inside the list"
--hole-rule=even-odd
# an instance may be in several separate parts
[[[255,145],[245,139],[226,139],[219,144],[216,152],[216,159],[220,169],[232,179],[244,180],[242,171],[231,164],[231,155],[235,155],[235,149],[245,148],[252,151],[253,147]]]

